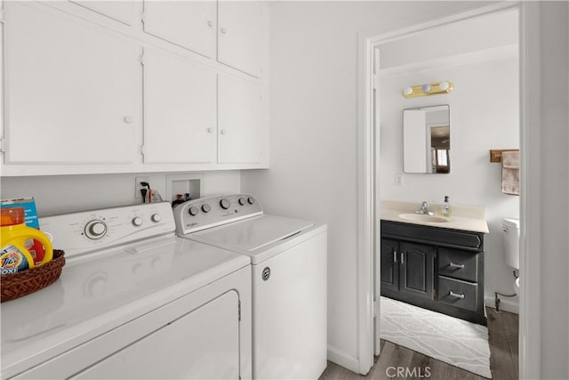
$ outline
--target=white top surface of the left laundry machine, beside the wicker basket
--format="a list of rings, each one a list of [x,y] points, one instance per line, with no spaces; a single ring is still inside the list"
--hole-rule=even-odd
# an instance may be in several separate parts
[[[249,263],[244,255],[174,236],[69,260],[51,286],[2,303],[2,377],[4,371],[50,359]]]

